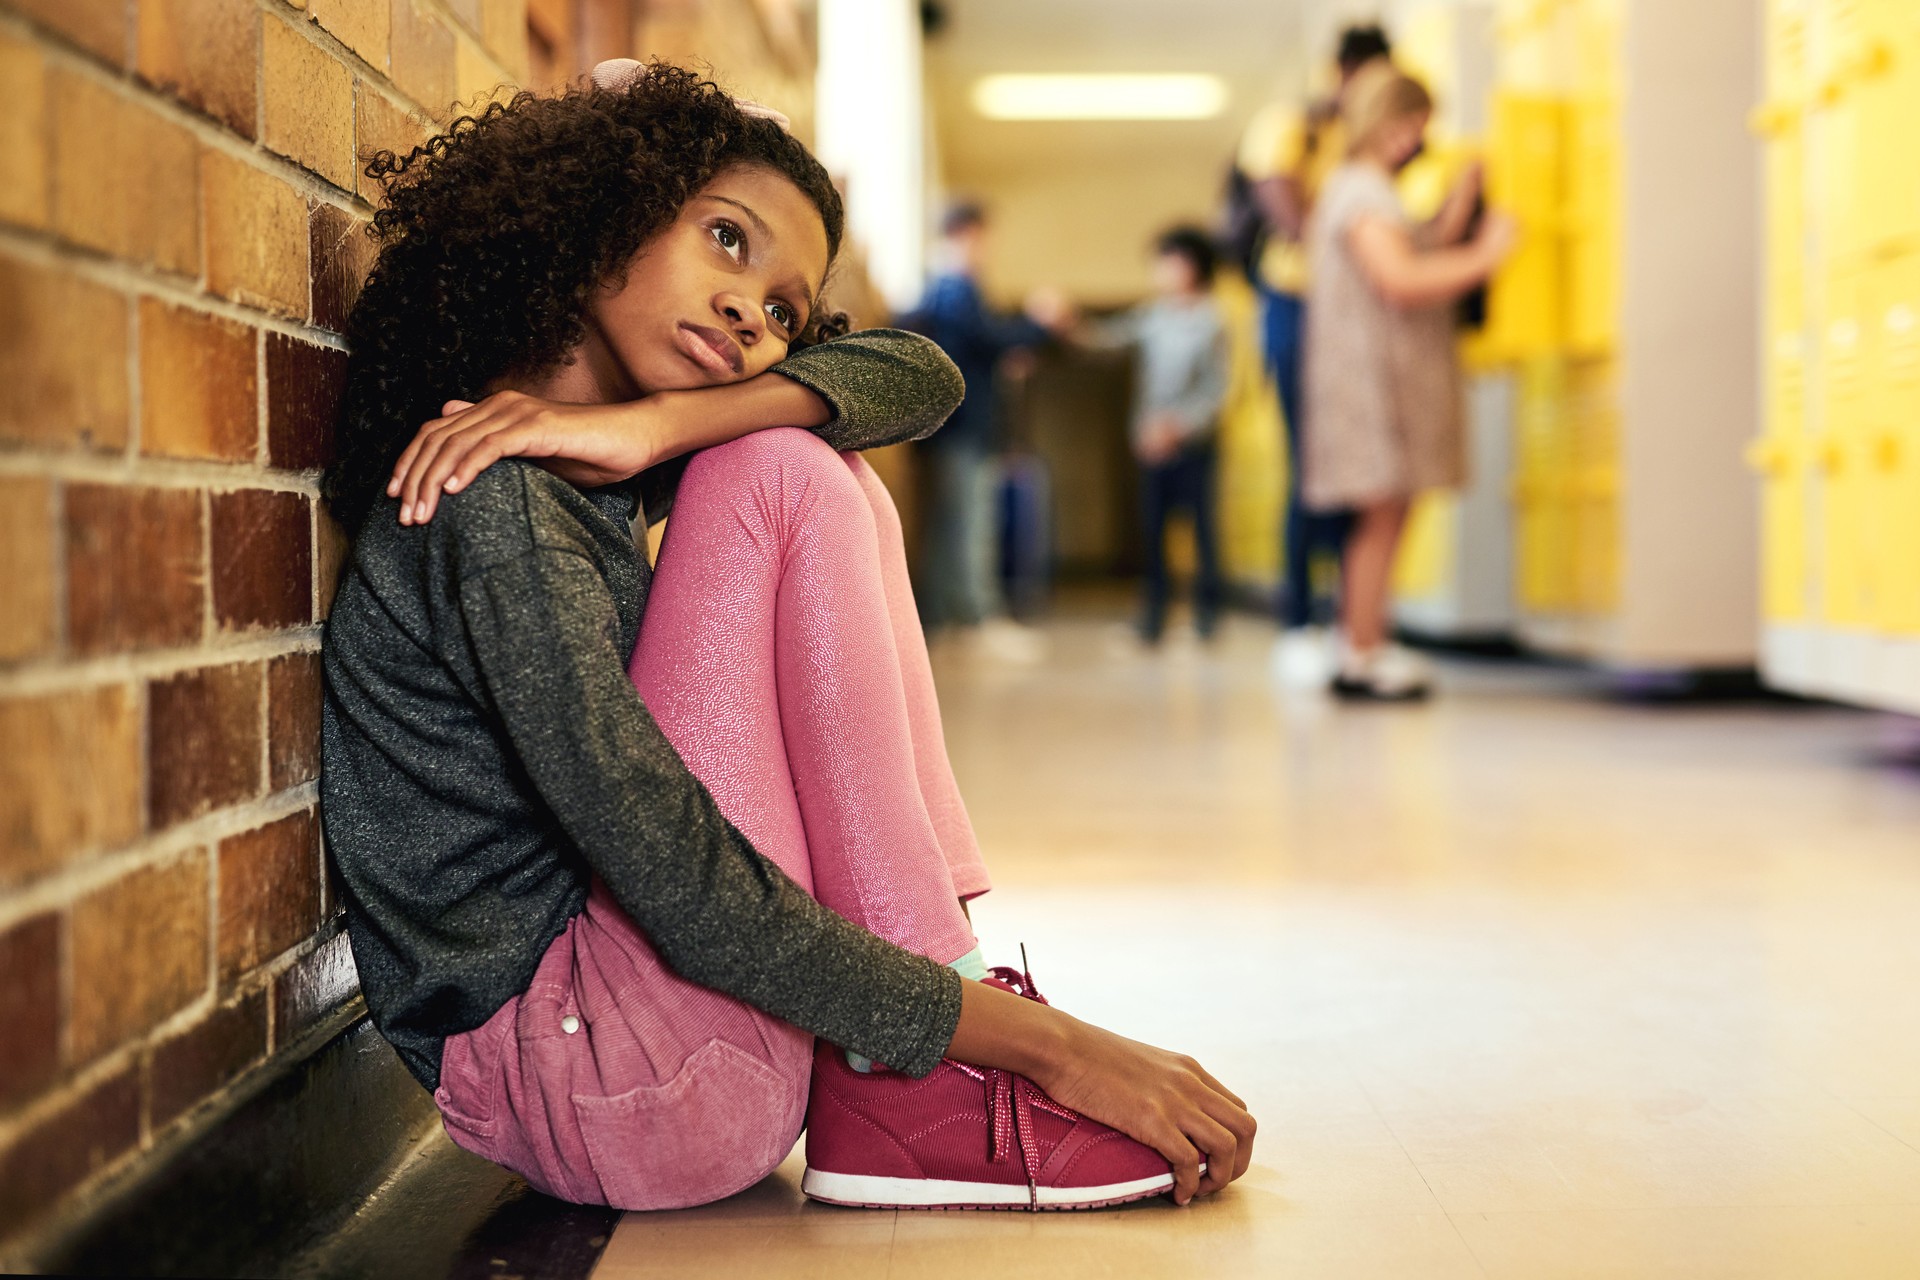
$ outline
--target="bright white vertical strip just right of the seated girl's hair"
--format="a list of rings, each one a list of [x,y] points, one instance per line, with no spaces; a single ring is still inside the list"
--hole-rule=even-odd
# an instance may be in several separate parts
[[[925,255],[924,77],[914,0],[820,0],[816,152],[847,186],[849,236],[895,307]]]

